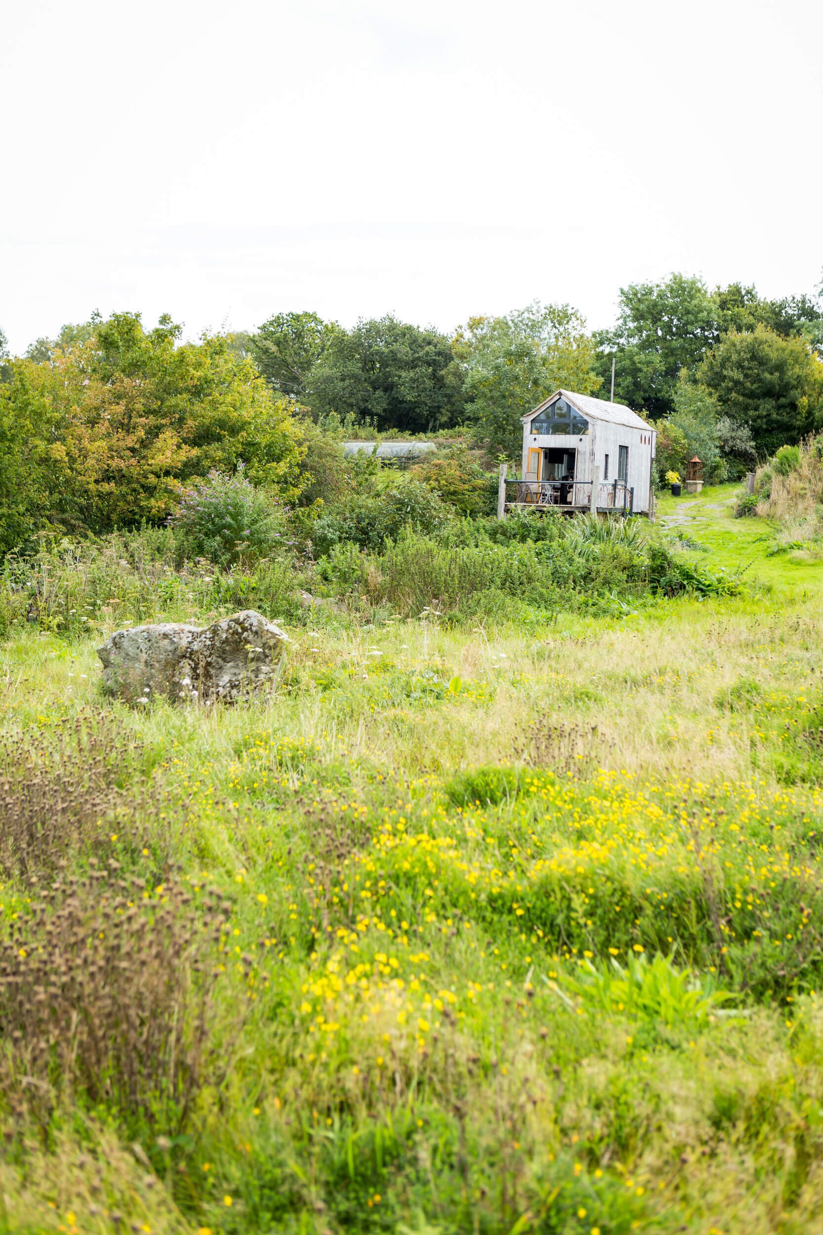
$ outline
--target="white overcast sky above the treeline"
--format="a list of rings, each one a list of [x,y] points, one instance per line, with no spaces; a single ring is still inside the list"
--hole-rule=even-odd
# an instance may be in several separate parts
[[[812,291],[822,46],[821,0],[5,0],[0,327]]]

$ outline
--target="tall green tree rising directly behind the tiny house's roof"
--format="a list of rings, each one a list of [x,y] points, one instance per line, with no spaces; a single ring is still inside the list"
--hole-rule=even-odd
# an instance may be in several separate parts
[[[659,283],[621,288],[617,325],[598,330],[595,371],[608,388],[614,357],[614,399],[650,416],[674,408],[681,369],[693,375],[717,341],[717,305],[702,279],[670,274]]]

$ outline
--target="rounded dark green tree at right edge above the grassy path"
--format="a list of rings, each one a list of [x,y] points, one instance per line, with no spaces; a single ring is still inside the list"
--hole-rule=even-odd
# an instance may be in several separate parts
[[[819,425],[823,363],[804,338],[782,338],[767,326],[723,335],[697,369],[719,410],[750,425],[758,451],[793,445]]]

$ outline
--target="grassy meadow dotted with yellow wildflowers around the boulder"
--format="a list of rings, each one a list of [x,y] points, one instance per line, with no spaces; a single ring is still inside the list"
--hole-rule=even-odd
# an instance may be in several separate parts
[[[729,494],[687,531],[733,567]],[[136,1039],[155,1045],[131,1092],[116,1024],[110,1055],[75,1026],[43,1056],[4,1021],[0,1225],[818,1230],[817,566],[734,524],[759,552],[744,595],[528,630],[317,609],[275,693],[233,709],[104,698],[105,614],[95,638],[14,634],[30,830],[49,752],[88,735],[121,798],[97,836],[6,868],[0,978],[25,994],[69,888],[94,931],[32,986],[36,1023],[73,999],[115,1024],[95,973],[127,974],[139,920],[153,968],[117,989],[131,1025],[169,1029]]]

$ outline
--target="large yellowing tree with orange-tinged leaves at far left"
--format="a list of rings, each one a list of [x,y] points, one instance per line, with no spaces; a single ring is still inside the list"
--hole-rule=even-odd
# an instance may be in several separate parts
[[[139,314],[120,312],[51,363],[12,362],[0,422],[11,437],[20,426],[9,483],[28,475],[32,526],[159,520],[192,480],[241,461],[253,483],[297,494],[304,446],[287,401],[225,336],[178,346],[179,336],[168,316],[147,331]]]

